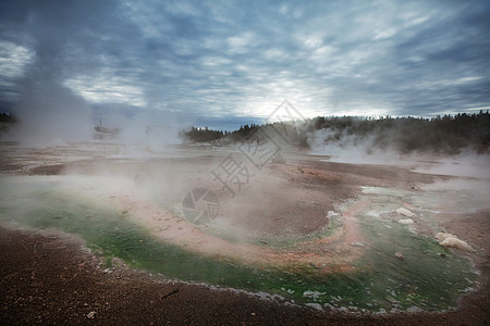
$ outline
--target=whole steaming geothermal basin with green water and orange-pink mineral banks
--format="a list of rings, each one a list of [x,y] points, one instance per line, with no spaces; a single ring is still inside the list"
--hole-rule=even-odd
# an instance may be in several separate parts
[[[91,151],[57,164],[21,150],[3,158],[23,168],[0,177],[1,224],[77,235],[108,271],[120,259],[164,278],[317,309],[444,311],[478,288],[470,253],[444,248],[433,235],[451,231],[445,214],[487,214],[487,197],[471,191],[485,180],[457,179],[462,188],[454,177],[302,155],[269,164],[232,198],[209,173],[226,150],[138,159],[106,151],[103,160]],[[44,153],[46,162],[57,155]],[[182,210],[198,186],[213,187],[220,199],[220,213],[205,224],[189,223]],[[408,218],[400,209],[413,213],[412,223],[400,223]]]

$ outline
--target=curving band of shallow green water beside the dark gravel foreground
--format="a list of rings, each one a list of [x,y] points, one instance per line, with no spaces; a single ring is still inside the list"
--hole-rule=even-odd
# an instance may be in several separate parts
[[[321,276],[315,266],[307,265],[296,273],[274,267],[261,269],[205,258],[162,242],[134,223],[126,211],[107,204],[103,191],[90,181],[77,181],[76,187],[70,179],[49,177],[1,178],[0,183],[1,222],[15,221],[78,235],[108,262],[117,256],[132,267],[169,278],[369,311],[411,306],[445,310],[455,305],[456,298],[476,278],[466,260],[432,239],[367,215],[358,216],[367,239],[367,254],[355,263],[356,272]],[[397,251],[403,252],[404,260],[394,256]],[[305,297],[305,291],[313,293]]]

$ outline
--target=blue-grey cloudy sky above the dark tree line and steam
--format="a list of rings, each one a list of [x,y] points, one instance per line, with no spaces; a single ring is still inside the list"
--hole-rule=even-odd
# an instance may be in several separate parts
[[[0,103],[195,125],[490,106],[490,1],[0,1]],[[69,105],[69,103],[66,104]]]

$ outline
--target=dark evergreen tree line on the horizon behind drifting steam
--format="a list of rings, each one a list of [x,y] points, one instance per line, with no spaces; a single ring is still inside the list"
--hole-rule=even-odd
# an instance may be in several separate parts
[[[445,114],[425,117],[366,117],[366,116],[317,116],[296,122],[273,124],[246,124],[234,131],[196,128],[184,133],[194,142],[236,142],[250,140],[258,128],[273,127],[289,135],[293,143],[308,147],[319,134],[328,135],[324,142],[342,141],[348,137],[354,143],[369,139],[373,147],[395,148],[401,152],[414,151],[456,154],[464,148],[487,152],[490,143],[490,114],[479,113]],[[318,133],[324,130],[328,133]],[[253,140],[253,139],[252,139]]]

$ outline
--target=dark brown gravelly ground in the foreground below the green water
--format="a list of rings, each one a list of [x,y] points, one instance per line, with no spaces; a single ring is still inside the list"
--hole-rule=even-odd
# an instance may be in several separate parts
[[[61,234],[0,228],[2,325],[488,325],[488,287],[456,312],[342,315],[172,283],[124,267],[106,274]],[[485,272],[488,274],[488,271]],[[94,314],[91,314],[95,312]]]

